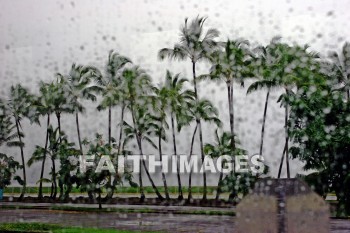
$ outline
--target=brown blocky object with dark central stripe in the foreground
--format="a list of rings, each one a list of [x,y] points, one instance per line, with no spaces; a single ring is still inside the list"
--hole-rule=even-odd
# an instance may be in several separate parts
[[[238,233],[329,232],[329,206],[299,179],[260,179],[237,206]]]

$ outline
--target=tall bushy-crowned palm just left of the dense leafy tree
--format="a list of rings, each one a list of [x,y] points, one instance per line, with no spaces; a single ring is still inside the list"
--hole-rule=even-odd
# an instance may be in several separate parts
[[[255,82],[249,87],[248,92],[253,90],[267,87],[268,90],[271,88],[283,88],[285,94],[282,94],[278,100],[282,102],[285,107],[285,145],[282,153],[282,159],[278,172],[278,178],[281,176],[281,168],[286,157],[286,168],[287,177],[290,178],[289,169],[289,132],[288,132],[288,121],[289,121],[289,106],[288,98],[293,93],[293,87],[296,83],[300,82],[305,76],[307,69],[315,69],[315,59],[318,57],[316,53],[307,52],[308,46],[289,46],[288,44],[281,43],[279,38],[274,38],[272,42],[267,46],[265,52],[263,51],[262,58],[258,64],[262,64],[260,75],[263,79]],[[261,50],[261,48],[260,48]],[[265,57],[264,57],[265,56]],[[309,74],[309,72],[306,72]],[[268,92],[269,94],[269,92]],[[267,100],[265,101],[265,108],[267,108]],[[265,109],[264,109],[265,112]],[[266,113],[264,113],[266,117]],[[264,129],[262,129],[263,131]],[[263,137],[263,135],[262,135]]]

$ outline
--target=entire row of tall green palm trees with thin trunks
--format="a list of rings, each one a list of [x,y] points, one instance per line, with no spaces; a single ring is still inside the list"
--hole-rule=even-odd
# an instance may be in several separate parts
[[[82,66],[73,64],[68,74],[57,74],[56,80],[50,83],[40,82],[40,95],[35,96],[21,85],[11,88],[9,101],[1,100],[2,106],[13,117],[13,128],[16,131],[11,139],[18,141],[7,142],[8,145],[18,146],[21,153],[23,169],[23,184],[21,197],[24,196],[26,187],[26,161],[24,156],[23,129],[21,120],[28,118],[31,122],[39,123],[41,117],[46,117],[46,136],[42,156],[33,155],[41,161],[41,172],[39,179],[39,198],[42,198],[42,184],[45,181],[44,173],[47,154],[50,154],[50,135],[52,134],[52,119],[57,119],[57,135],[59,142],[62,141],[61,120],[62,114],[75,114],[77,139],[80,153],[84,153],[84,140],[80,132],[79,114],[84,113],[85,107],[82,100],[96,101],[100,99],[97,109],[108,110],[108,145],[112,150],[115,148],[117,154],[123,154],[130,141],[136,141],[140,155],[144,155],[144,143],[149,143],[159,152],[162,161],[163,143],[167,142],[166,131],[171,131],[173,153],[178,155],[176,137],[184,127],[190,127],[194,123],[191,138],[189,157],[193,154],[196,136],[199,139],[199,148],[202,163],[205,155],[217,157],[220,153],[228,153],[232,157],[243,150],[238,148],[238,140],[235,134],[234,119],[234,83],[241,86],[245,80],[254,79],[247,93],[265,88],[267,90],[263,121],[261,127],[261,139],[259,153],[263,154],[265,125],[267,109],[270,101],[270,92],[274,89],[283,89],[279,101],[285,108],[285,146],[282,153],[278,177],[281,176],[281,168],[286,161],[287,177],[290,177],[289,168],[289,106],[288,98],[295,91],[295,88],[309,80],[313,73],[323,72],[325,75],[339,77],[339,88],[343,88],[349,98],[349,44],[345,44],[342,55],[332,54],[331,60],[320,59],[318,54],[309,52],[307,46],[288,45],[282,43],[280,38],[273,38],[267,46],[251,48],[249,42],[243,39],[218,41],[219,32],[217,29],[204,29],[206,18],[197,17],[192,21],[185,20],[180,31],[180,41],[173,48],[163,48],[159,51],[158,57],[163,60],[191,61],[193,90],[185,88],[189,80],[182,78],[180,74],[173,75],[166,72],[164,84],[154,86],[151,77],[145,70],[132,61],[111,51],[104,72],[93,66]],[[197,75],[196,65],[201,61],[207,61],[211,67],[208,74]],[[327,74],[326,74],[327,73]],[[308,77],[308,78],[306,78]],[[204,144],[202,122],[214,123],[218,128],[222,126],[218,111],[207,99],[199,95],[198,82],[211,80],[225,82],[227,88],[229,132],[223,132],[220,136],[216,131],[216,144]],[[298,84],[298,85],[296,85]],[[99,97],[100,96],[100,97]],[[112,111],[119,107],[120,122],[118,140],[112,137]],[[128,117],[127,117],[128,116]],[[170,124],[168,123],[170,120]],[[11,134],[9,134],[11,135]],[[154,143],[156,138],[158,143]],[[51,153],[52,154],[52,153]],[[51,155],[52,163],[52,194],[57,195],[56,183],[56,156]],[[145,171],[155,193],[159,199],[164,199],[154,183],[151,174],[140,159],[138,181],[141,200],[145,198],[142,170]],[[31,164],[30,163],[30,164]],[[234,166],[235,168],[235,166]],[[165,190],[165,198],[169,199],[168,183],[165,174],[162,173],[162,182]],[[233,171],[236,175],[236,171]],[[189,174],[188,200],[192,199],[192,171]],[[114,186],[112,180],[116,177],[109,177],[111,190],[108,193],[112,197]],[[178,199],[183,199],[183,182],[181,181],[179,164],[177,164]],[[223,181],[223,174],[220,174],[216,199],[221,193],[220,184]],[[203,200],[207,199],[206,173],[203,172]],[[232,190],[232,195],[237,193]]]

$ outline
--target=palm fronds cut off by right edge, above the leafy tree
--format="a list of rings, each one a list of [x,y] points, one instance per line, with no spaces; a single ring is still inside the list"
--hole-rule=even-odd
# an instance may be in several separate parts
[[[345,42],[341,53],[332,52],[329,56],[338,82],[343,85],[345,95],[350,100],[350,43]]]

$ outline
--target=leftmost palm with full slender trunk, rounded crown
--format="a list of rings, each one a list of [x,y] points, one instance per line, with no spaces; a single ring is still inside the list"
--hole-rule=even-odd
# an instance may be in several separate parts
[[[16,133],[18,141],[8,142],[9,146],[17,146],[20,148],[21,153],[21,162],[22,162],[22,171],[23,171],[23,180],[20,181],[22,185],[22,192],[19,197],[19,200],[24,198],[27,186],[27,176],[26,176],[26,164],[24,159],[24,134],[22,131],[21,121],[24,117],[27,117],[33,120],[34,115],[31,115],[33,111],[31,110],[31,104],[33,103],[33,95],[29,91],[22,87],[20,84],[16,86],[11,86],[10,89],[10,99],[6,103],[6,108],[9,114],[12,115],[14,125],[16,127]],[[36,121],[36,120],[35,120]]]

